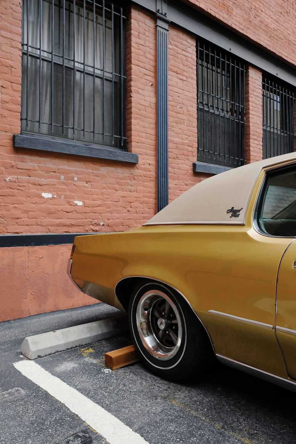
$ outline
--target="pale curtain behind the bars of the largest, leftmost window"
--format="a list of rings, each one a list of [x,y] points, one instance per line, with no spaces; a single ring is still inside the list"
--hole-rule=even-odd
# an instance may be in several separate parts
[[[27,17],[27,1],[29,14]],[[40,31],[41,9],[41,31]],[[23,55],[22,116],[26,111],[26,89],[28,71],[28,117],[39,120],[39,48],[41,39],[41,131],[38,122],[29,122],[28,131],[33,133],[52,134],[73,139],[73,2],[65,2],[64,27],[64,134],[61,126],[54,126],[51,133],[51,50],[52,50],[52,1],[24,0],[23,42],[27,45],[27,26],[29,44],[29,66],[27,56]],[[84,27],[83,28],[83,24]],[[103,132],[103,17],[86,9],[85,21],[83,4],[75,5],[75,140],[93,142],[93,133],[85,132],[83,138],[83,55],[85,58],[84,80],[84,118],[85,130],[93,131],[94,109],[94,66],[95,66],[95,131]],[[111,20],[105,18],[105,133],[112,133],[112,88],[108,79],[112,78]],[[94,48],[95,47],[95,48]],[[27,47],[24,46],[25,51]],[[63,118],[63,1],[54,2],[53,19],[53,123],[62,125]],[[94,58],[95,56],[95,58]],[[116,71],[116,57],[114,71]],[[115,83],[116,103],[116,83]],[[26,123],[23,121],[23,128]],[[67,128],[70,127],[70,128]],[[105,143],[110,143],[110,137]],[[95,136],[96,143],[102,143],[103,137]]]

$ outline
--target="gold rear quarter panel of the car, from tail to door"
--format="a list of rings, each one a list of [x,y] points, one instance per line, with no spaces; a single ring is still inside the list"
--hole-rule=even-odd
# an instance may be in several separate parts
[[[274,241],[246,226],[221,225],[145,226],[82,236],[75,239],[72,277],[81,287],[99,285],[96,297],[118,308],[114,288],[121,279],[141,276],[165,282],[185,296],[216,353],[285,376],[273,330],[209,313],[273,325],[277,269],[288,243]]]

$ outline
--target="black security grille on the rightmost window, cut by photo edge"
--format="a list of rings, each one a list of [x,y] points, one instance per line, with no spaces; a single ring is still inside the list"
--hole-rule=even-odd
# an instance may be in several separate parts
[[[276,79],[263,78],[263,159],[294,151],[294,93]]]

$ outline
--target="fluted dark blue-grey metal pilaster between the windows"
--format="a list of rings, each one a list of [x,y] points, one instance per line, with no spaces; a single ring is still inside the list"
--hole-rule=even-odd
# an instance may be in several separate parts
[[[169,203],[169,107],[167,21],[157,19],[157,210]]]

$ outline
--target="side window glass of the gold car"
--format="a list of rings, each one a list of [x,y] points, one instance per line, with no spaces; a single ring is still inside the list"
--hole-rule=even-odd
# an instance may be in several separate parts
[[[258,213],[265,233],[296,237],[296,168],[270,174]]]

